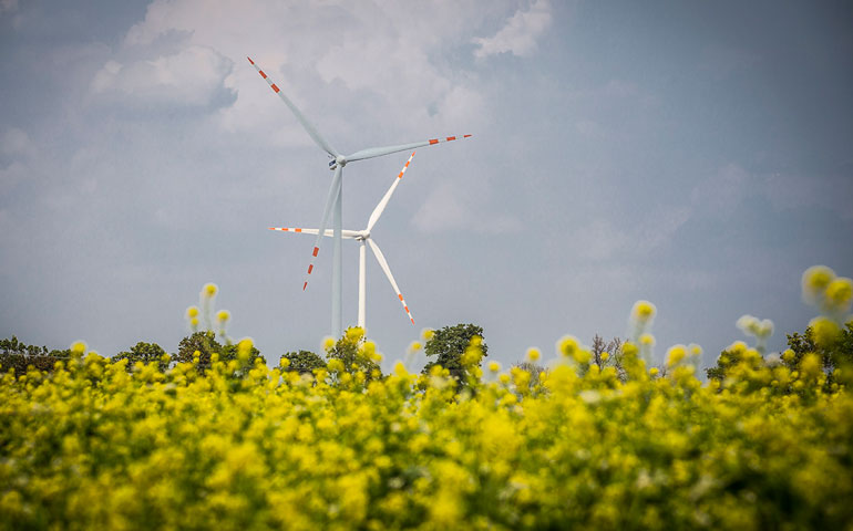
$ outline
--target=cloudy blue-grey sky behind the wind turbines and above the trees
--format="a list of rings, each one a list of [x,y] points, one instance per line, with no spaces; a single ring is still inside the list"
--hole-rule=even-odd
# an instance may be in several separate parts
[[[658,363],[709,366],[743,314],[805,329],[808,267],[853,277],[850,2],[0,0],[0,336],[175,352],[215,282],[270,364],[320,352],[331,246],[302,292],[314,239],[267,228],[317,227],[332,174],[247,56],[341,152],[473,135],[372,231],[417,323],[369,258],[386,368],[456,323],[504,365],[626,337],[637,300]],[[408,155],[347,167],[345,228]]]

